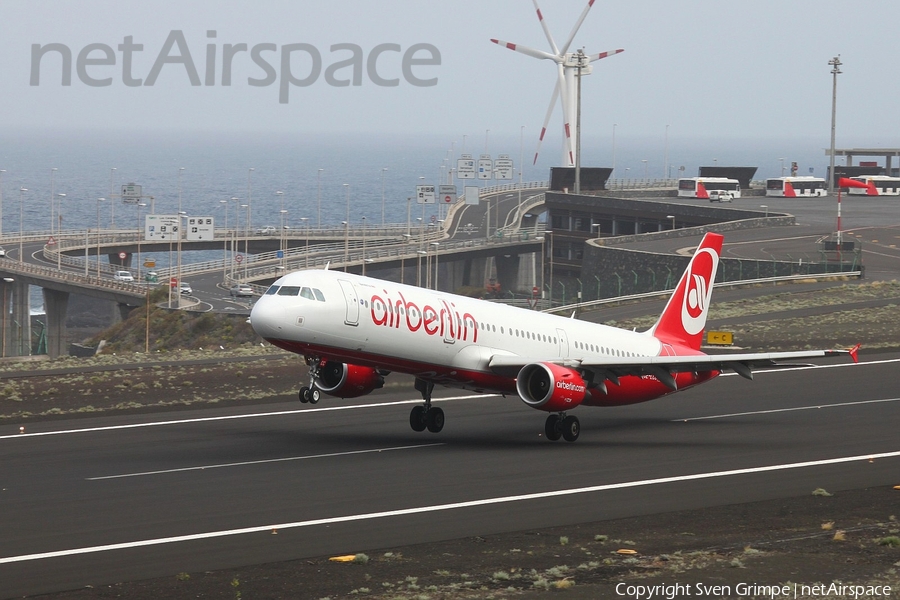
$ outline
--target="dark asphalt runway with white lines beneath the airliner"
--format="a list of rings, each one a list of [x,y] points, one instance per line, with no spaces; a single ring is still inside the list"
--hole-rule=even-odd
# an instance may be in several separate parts
[[[578,409],[412,393],[0,428],[0,597],[896,485],[896,354]],[[885,507],[885,515],[892,507]]]

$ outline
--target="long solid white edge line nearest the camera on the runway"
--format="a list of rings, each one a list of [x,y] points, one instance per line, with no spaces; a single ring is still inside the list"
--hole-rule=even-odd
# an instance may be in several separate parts
[[[260,525],[255,527],[243,527],[240,529],[227,529],[223,531],[208,531],[205,533],[194,533],[189,535],[178,535],[164,538],[154,538],[148,540],[137,540],[133,542],[124,542],[119,544],[106,544],[102,546],[88,546],[85,548],[71,548],[69,550],[58,550],[54,552],[39,552],[35,554],[23,554],[21,556],[8,556],[0,558],[0,564],[21,563],[36,560],[46,560],[48,558],[61,558],[67,556],[76,556],[81,554],[94,554],[97,552],[109,552],[113,550],[127,550],[131,548],[143,548],[147,546],[160,546],[163,544],[178,544],[182,542],[192,542],[199,540],[210,540],[236,535],[246,535],[250,533],[270,533],[273,530],[298,529],[301,527],[314,527],[319,525],[334,525],[338,523],[350,523],[355,521],[369,521],[374,519],[383,519],[386,517],[400,517],[406,515],[416,515],[425,513],[434,513],[446,510],[458,510],[463,508],[475,508],[479,506],[490,506],[498,504],[510,504],[513,502],[524,502],[527,500],[542,500],[546,498],[557,498],[560,496],[573,496],[576,494],[590,494],[596,492],[604,492],[608,490],[618,490],[625,488],[643,487],[651,485],[663,485],[667,483],[678,483],[683,481],[698,481],[703,479],[714,479],[718,477],[732,477],[735,475],[747,475],[752,473],[766,473],[772,471],[784,471],[789,469],[805,469],[809,467],[820,467],[826,465],[837,465],[849,462],[870,461],[882,458],[900,457],[900,451],[881,452],[878,454],[865,454],[858,456],[844,456],[839,458],[828,458],[824,460],[813,460],[799,463],[787,463],[781,465],[766,465],[762,467],[750,467],[746,469],[733,469],[730,471],[713,471],[710,473],[695,473],[692,475],[678,475],[674,477],[661,477],[659,479],[644,479],[639,481],[624,481],[621,483],[610,483],[604,485],[595,485],[590,487],[571,488],[564,490],[556,490],[550,492],[539,492],[534,494],[521,494],[517,496],[501,496],[497,498],[484,498],[482,500],[470,500],[467,502],[453,502],[450,504],[436,504],[432,506],[417,506],[413,508],[402,508],[398,510],[388,510],[382,512],[362,513],[357,515],[345,515],[340,517],[329,517],[324,519],[312,519],[309,521],[295,521],[291,523],[272,523],[270,525]]]

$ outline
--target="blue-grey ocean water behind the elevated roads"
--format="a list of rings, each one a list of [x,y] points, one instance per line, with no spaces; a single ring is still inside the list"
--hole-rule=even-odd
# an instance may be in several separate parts
[[[781,175],[796,161],[801,175],[824,176],[827,145],[825,138],[685,139],[674,132],[668,139],[664,134],[629,138],[619,132],[613,140],[612,130],[585,131],[582,164],[615,166],[614,177],[631,179],[663,178],[666,159],[672,177],[696,175],[702,165],[756,166],[756,178],[763,179]],[[866,140],[865,145],[873,143]],[[374,226],[381,223],[382,197],[387,223],[406,222],[407,199],[412,197],[415,225],[416,217],[423,216],[422,208],[415,203],[416,185],[446,183],[448,169],[455,167],[463,152],[477,157],[486,151],[494,158],[508,154],[515,163],[515,181],[520,165],[524,181],[547,180],[550,167],[560,163],[561,142],[548,135],[533,164],[535,146],[534,137],[522,132],[508,136],[492,133],[488,138],[486,134],[4,131],[0,132],[0,169],[5,170],[0,173],[0,227],[7,237],[15,236],[20,228],[47,231],[51,224],[63,230],[95,228],[97,198],[103,197],[107,200],[99,204],[102,227],[111,226],[114,219],[119,228],[136,229],[136,207],[121,200],[114,205],[109,201],[111,187],[118,193],[125,183],[143,186],[143,193],[154,197],[152,204],[158,214],[175,214],[180,196],[183,211],[212,216],[217,225],[224,225],[227,219],[233,227],[239,218],[243,227],[247,211],[238,204],[250,198],[254,228],[277,227],[282,206],[287,211],[285,224],[291,227],[302,227],[301,218],[308,219],[313,227],[320,219],[323,227],[338,226],[348,212],[351,224],[361,225],[366,217],[366,224]],[[54,168],[56,171],[51,171]],[[505,182],[454,183],[461,190],[465,184]],[[22,187],[28,191],[20,192]],[[239,201],[230,201],[233,197]],[[53,219],[51,198],[57,203]],[[141,210],[146,214],[151,201],[144,202],[148,206]],[[437,207],[426,206],[425,219],[432,216],[437,217]],[[154,258],[160,265],[168,263],[166,255]],[[209,258],[218,255],[186,253],[184,260]],[[36,298],[39,305],[40,295]]]

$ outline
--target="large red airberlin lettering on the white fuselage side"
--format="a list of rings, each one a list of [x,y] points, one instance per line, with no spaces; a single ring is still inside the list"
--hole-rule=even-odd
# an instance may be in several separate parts
[[[429,304],[421,308],[403,297],[399,300],[390,298],[387,290],[382,290],[385,298],[374,295],[371,298],[372,322],[384,327],[399,329],[404,325],[409,331],[415,333],[420,329],[428,335],[439,335],[455,340],[468,341],[469,331],[472,333],[472,342],[478,341],[478,322],[469,313],[459,314],[452,302],[447,304],[440,300],[438,308]]]

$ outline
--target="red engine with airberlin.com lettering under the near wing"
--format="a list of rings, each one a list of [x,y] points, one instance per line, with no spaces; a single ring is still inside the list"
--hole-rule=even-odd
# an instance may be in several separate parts
[[[528,406],[548,412],[575,408],[588,393],[577,371],[553,363],[522,367],[516,377],[516,391]]]

